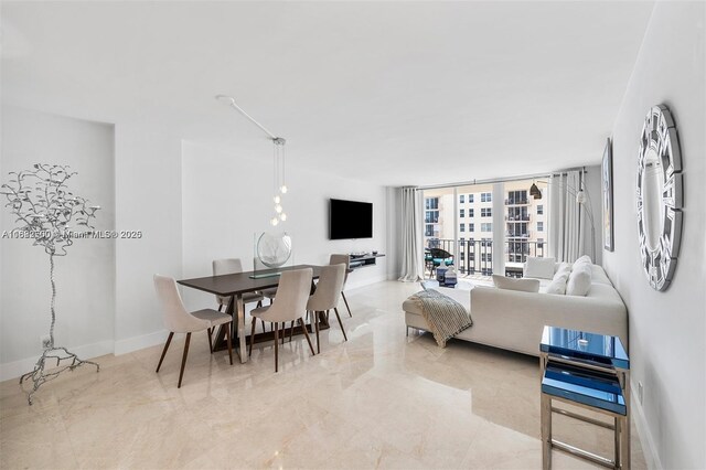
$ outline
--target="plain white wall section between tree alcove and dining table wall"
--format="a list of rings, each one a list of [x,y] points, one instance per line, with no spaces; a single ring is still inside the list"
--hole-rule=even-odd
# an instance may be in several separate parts
[[[115,352],[162,342],[152,276],[180,278],[181,139],[154,120],[116,125],[116,226],[141,239],[116,245]]]

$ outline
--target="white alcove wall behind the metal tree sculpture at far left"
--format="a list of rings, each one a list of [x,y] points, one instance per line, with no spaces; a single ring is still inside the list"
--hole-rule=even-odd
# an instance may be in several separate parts
[[[38,162],[68,164],[78,172],[69,190],[101,206],[97,229],[115,228],[114,127],[44,113],[2,107],[2,182],[9,171]],[[2,197],[4,201],[4,196]],[[2,203],[2,229],[14,216]],[[0,376],[17,376],[34,365],[40,337],[51,322],[49,256],[26,239],[1,239]],[[115,242],[77,239],[55,258],[55,344],[79,355],[113,352]]]

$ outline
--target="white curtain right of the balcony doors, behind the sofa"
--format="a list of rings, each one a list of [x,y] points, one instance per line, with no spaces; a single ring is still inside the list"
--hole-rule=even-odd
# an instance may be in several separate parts
[[[580,256],[584,246],[579,204],[576,192],[580,188],[580,172],[552,177],[549,193],[549,254],[558,261],[574,263]],[[586,226],[586,224],[584,224]]]

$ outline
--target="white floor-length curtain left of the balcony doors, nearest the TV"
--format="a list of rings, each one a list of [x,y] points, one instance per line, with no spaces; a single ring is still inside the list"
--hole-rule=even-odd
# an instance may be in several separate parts
[[[402,189],[402,276],[399,280],[416,282],[422,279],[424,245],[421,237],[421,191]]]

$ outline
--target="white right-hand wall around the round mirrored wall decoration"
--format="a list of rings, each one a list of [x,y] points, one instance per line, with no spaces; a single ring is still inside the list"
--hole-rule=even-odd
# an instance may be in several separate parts
[[[633,417],[655,467],[704,468],[706,455],[706,4],[655,6],[613,127],[616,250],[603,265],[629,309],[632,385],[644,386]],[[677,125],[684,167],[682,249],[672,286],[653,290],[640,267],[635,167],[651,106]]]

